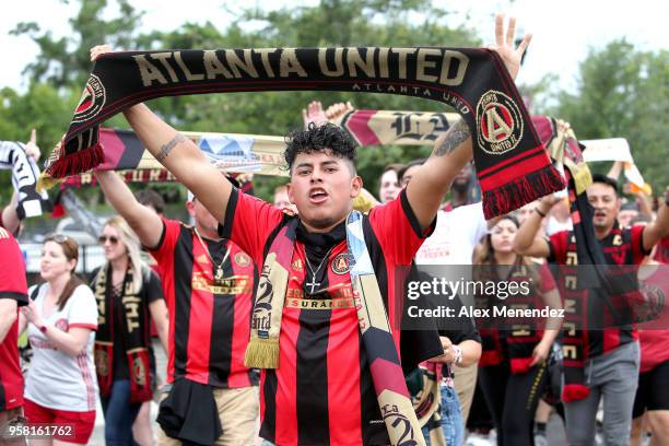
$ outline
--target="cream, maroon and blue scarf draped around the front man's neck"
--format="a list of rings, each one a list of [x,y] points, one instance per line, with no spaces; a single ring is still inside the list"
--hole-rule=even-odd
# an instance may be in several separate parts
[[[376,398],[392,445],[403,444],[402,438],[415,442],[411,444],[424,445],[365,244],[362,222],[360,212],[349,214],[347,248],[353,298]],[[279,231],[265,259],[251,313],[250,341],[244,359],[247,367],[280,367],[281,318],[298,223],[298,219],[293,219]]]

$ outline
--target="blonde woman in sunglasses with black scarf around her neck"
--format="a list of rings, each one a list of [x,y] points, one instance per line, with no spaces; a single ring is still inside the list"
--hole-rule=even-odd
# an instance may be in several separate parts
[[[121,216],[105,223],[99,243],[106,261],[93,272],[91,287],[101,313],[95,365],[105,441],[134,445],[132,423],[155,387],[149,318],[166,350],[167,308],[160,279],[142,260],[139,239]]]

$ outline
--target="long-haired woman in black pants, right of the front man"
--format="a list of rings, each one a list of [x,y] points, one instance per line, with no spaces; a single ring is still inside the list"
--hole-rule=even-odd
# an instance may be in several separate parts
[[[476,305],[490,315],[477,320],[483,354],[479,379],[497,430],[497,445],[532,445],[533,418],[547,385],[547,360],[561,319],[549,317],[501,318],[492,308],[535,310],[561,308],[560,294],[547,265],[514,253],[512,244],[518,221],[503,216],[474,254],[474,279],[485,284],[478,290]],[[515,286],[510,285],[515,282]],[[489,286],[494,284],[494,292]],[[523,290],[512,293],[510,290]]]

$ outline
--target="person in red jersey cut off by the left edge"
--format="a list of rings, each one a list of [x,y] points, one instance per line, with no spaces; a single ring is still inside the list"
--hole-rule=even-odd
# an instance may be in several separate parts
[[[19,362],[19,306],[27,305],[25,263],[19,244],[0,226],[0,444],[7,423],[22,414],[23,375]],[[8,444],[22,445],[23,439]]]

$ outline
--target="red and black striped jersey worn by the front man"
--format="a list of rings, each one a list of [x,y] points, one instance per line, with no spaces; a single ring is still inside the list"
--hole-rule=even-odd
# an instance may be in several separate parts
[[[296,218],[233,189],[220,234],[262,265],[279,230]],[[421,231],[402,192],[374,208],[363,220],[363,231],[392,315],[398,309],[390,296],[396,287],[401,290],[396,267],[411,263],[430,230]],[[419,361],[441,353],[434,334],[437,345],[411,345],[412,353],[423,356]],[[394,338],[399,347],[399,330]],[[343,222],[328,234],[297,226],[279,368],[261,373],[260,416],[260,436],[282,446],[388,444],[353,303]]]

